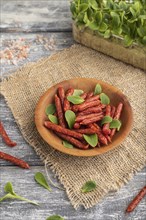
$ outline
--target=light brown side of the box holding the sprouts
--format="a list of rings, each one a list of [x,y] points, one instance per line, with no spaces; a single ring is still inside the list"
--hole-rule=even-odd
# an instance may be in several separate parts
[[[100,51],[125,63],[146,70],[146,48],[134,45],[126,48],[118,38],[105,39],[89,29],[80,30],[73,23],[75,41],[87,47]]]

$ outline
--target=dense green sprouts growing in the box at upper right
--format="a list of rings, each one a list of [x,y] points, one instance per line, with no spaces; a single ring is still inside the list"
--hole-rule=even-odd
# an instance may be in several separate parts
[[[73,0],[70,9],[80,29],[120,37],[126,47],[146,46],[146,0]]]

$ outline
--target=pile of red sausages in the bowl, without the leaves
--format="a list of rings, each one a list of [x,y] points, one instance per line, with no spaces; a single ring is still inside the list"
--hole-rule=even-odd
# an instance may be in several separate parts
[[[67,97],[72,96],[73,88],[69,88],[66,92],[63,87],[58,87],[57,94],[55,94],[54,102],[56,112],[54,113],[59,121],[59,125],[46,120],[44,126],[49,130],[54,131],[60,138],[67,140],[72,145],[80,149],[88,149],[90,146],[84,140],[83,134],[91,135],[97,134],[98,144],[108,145],[111,142],[116,129],[110,129],[109,123],[101,126],[101,120],[104,116],[110,116],[113,119],[120,119],[123,109],[123,103],[118,106],[105,105],[101,103],[100,96],[94,95],[93,92],[84,92],[80,95],[84,99],[81,104],[72,104]],[[73,129],[69,129],[65,120],[65,112],[71,110],[75,113],[76,119]]]

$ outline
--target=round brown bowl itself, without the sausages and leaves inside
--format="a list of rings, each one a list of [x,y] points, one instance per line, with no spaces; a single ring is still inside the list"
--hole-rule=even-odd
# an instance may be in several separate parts
[[[117,106],[119,102],[122,102],[124,104],[124,108],[120,118],[122,122],[121,129],[113,137],[112,143],[109,143],[107,146],[102,146],[101,148],[91,148],[88,150],[80,150],[77,148],[65,148],[62,144],[62,140],[52,131],[49,131],[47,128],[44,127],[44,121],[47,119],[45,115],[45,109],[48,106],[48,104],[53,103],[54,95],[57,93],[57,88],[59,86],[63,86],[65,91],[68,88],[73,87],[76,89],[82,89],[85,92],[89,92],[94,91],[95,85],[97,83],[99,83],[102,86],[103,92],[109,96],[112,105]],[[97,79],[74,78],[56,84],[49,88],[45,92],[45,94],[40,98],[35,110],[35,124],[42,138],[56,150],[74,156],[95,156],[114,149],[115,147],[120,145],[127,137],[132,128],[132,123],[133,113],[127,97],[118,88]]]

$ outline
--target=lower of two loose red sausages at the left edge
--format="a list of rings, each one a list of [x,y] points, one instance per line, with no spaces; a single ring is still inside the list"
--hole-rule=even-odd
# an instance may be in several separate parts
[[[1,151],[0,151],[0,159],[10,161],[11,163],[13,163],[21,168],[29,169],[28,163],[26,163],[24,160],[18,159],[16,157],[11,156],[10,154],[6,154]]]

